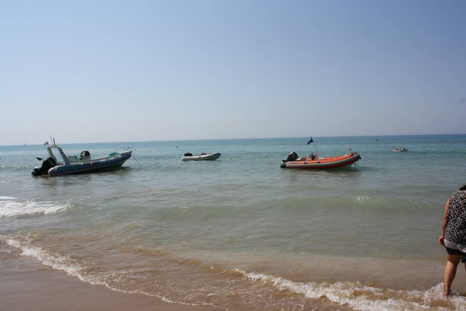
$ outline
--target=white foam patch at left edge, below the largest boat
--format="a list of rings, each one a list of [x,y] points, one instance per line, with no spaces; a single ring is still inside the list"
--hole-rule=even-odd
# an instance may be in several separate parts
[[[72,203],[22,201],[15,197],[0,197],[0,217],[32,214],[52,214],[66,210]]]

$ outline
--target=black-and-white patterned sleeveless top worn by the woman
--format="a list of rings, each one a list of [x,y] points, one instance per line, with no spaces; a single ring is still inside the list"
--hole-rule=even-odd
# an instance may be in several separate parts
[[[456,191],[450,197],[445,246],[466,253],[466,190]]]

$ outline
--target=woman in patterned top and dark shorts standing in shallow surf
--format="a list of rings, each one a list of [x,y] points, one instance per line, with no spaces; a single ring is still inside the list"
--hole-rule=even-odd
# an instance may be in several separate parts
[[[445,206],[440,245],[447,249],[445,266],[445,296],[450,294],[450,286],[456,275],[458,264],[466,261],[466,185],[454,192]],[[465,263],[466,268],[466,263]]]

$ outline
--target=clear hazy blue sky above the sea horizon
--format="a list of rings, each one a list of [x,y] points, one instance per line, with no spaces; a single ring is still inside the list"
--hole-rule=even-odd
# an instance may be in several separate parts
[[[0,145],[466,133],[466,1],[0,1]]]

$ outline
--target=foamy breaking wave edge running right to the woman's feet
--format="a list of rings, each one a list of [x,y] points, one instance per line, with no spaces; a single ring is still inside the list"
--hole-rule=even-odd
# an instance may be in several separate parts
[[[443,296],[443,283],[426,290],[397,291],[378,288],[359,282],[293,282],[282,277],[234,269],[255,282],[270,284],[281,291],[302,294],[307,298],[325,297],[342,306],[360,311],[406,311],[406,310],[459,310],[466,311],[466,297],[452,291],[452,296]]]

